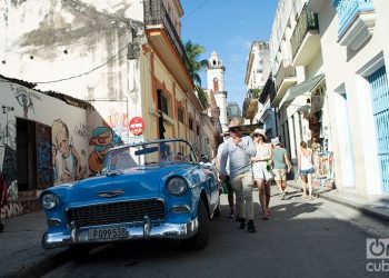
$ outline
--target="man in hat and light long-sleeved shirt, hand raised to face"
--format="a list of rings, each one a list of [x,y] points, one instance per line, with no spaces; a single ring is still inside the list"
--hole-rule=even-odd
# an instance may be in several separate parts
[[[240,119],[229,123],[230,138],[225,141],[220,155],[220,179],[226,180],[226,167],[229,159],[230,182],[236,191],[237,220],[240,228],[256,231],[252,205],[252,168],[251,157],[256,155],[256,146],[249,136],[242,136],[243,127]]]

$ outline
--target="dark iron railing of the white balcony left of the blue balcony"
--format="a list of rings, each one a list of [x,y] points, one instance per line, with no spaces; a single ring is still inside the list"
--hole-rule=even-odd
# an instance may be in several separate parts
[[[302,44],[303,39],[306,38],[308,31],[319,30],[319,20],[318,14],[309,11],[307,4],[302,8],[300,17],[297,21],[295,31],[290,39],[292,57],[296,57],[297,51]]]

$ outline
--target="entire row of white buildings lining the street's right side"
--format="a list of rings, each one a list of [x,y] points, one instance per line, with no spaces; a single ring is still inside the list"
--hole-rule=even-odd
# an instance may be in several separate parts
[[[295,160],[318,139],[321,175],[347,195],[389,192],[388,12],[385,0],[279,0],[269,40],[283,143]]]

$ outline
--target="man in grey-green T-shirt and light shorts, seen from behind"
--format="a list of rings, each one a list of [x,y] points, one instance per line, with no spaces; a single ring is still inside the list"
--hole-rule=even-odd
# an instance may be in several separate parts
[[[280,190],[280,199],[283,200],[287,195],[287,172],[292,169],[290,159],[288,158],[287,149],[281,147],[278,137],[271,139],[272,149],[272,171],[278,189]]]

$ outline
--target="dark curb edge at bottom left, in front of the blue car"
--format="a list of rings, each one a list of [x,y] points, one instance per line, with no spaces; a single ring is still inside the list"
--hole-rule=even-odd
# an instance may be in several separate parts
[[[49,255],[46,258],[26,264],[17,269],[6,272],[1,278],[38,278],[52,269],[66,264],[70,260],[70,251],[68,249]]]

